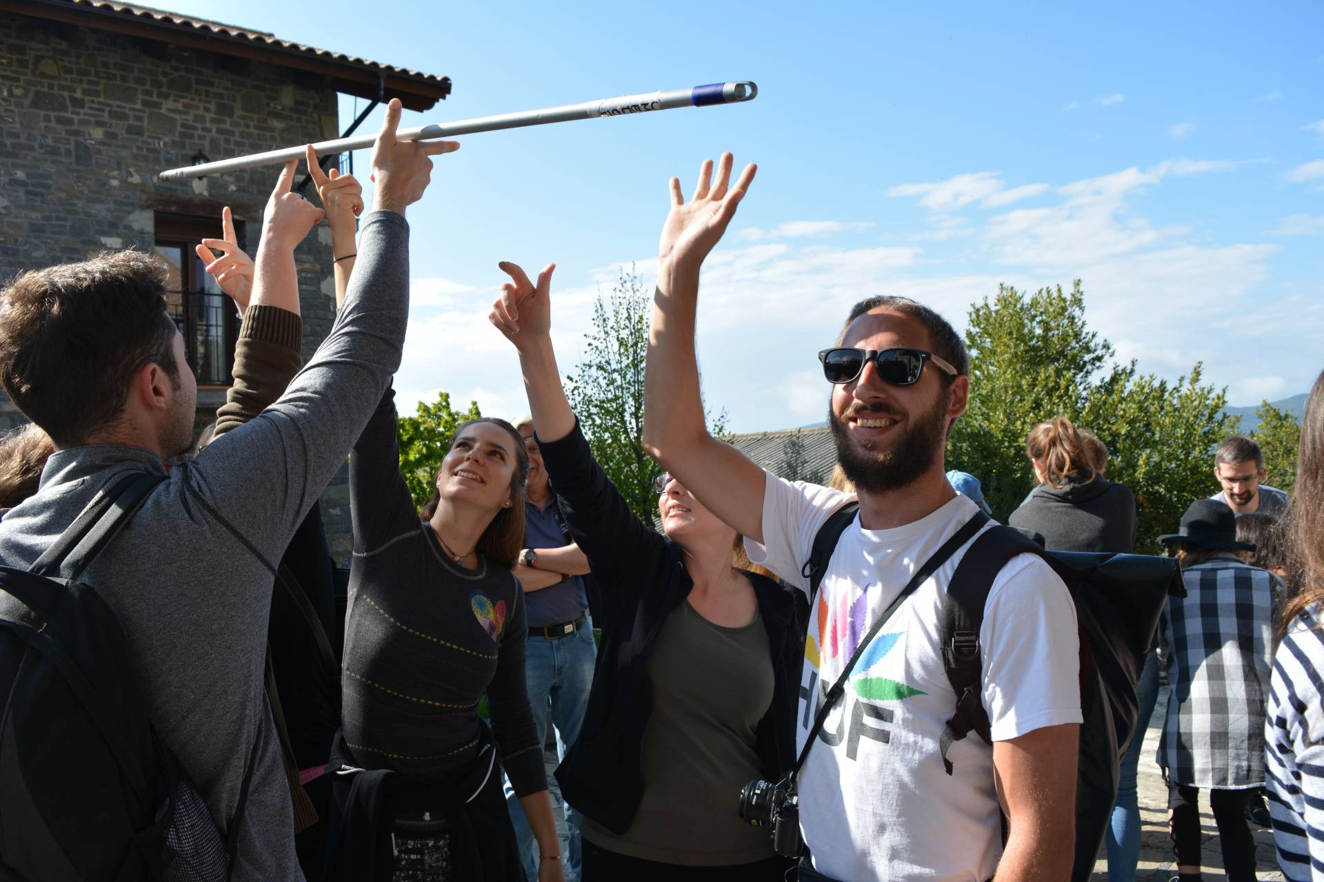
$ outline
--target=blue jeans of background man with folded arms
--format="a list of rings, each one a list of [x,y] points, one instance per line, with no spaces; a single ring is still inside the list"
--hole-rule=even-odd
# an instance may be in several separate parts
[[[528,682],[528,703],[534,711],[534,725],[538,726],[538,743],[547,743],[547,709],[552,709],[552,726],[556,729],[556,748],[565,756],[565,748],[579,739],[584,711],[588,709],[588,692],[593,685],[593,661],[597,647],[593,643],[593,623],[584,618],[575,633],[564,637],[528,639],[524,647],[524,677]],[[538,878],[538,840],[524,817],[519,797],[506,784],[506,804],[510,820],[515,825],[515,838],[519,853],[524,856],[524,871],[530,879]],[[583,815],[565,805],[565,828],[569,832],[569,846],[565,854],[565,882],[575,882],[580,875],[580,834]]]

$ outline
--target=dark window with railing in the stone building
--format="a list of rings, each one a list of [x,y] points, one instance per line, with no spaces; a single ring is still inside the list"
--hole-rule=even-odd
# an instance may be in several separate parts
[[[244,226],[236,223],[240,246]],[[234,303],[203,268],[195,246],[220,238],[220,218],[156,214],[156,254],[169,264],[167,305],[184,337],[188,365],[201,386],[229,386],[238,336]]]

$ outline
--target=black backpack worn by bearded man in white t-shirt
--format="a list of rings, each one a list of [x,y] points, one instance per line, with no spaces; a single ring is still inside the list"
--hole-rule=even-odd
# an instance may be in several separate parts
[[[805,575],[810,606],[837,541],[855,520],[858,502],[838,509],[814,537]],[[989,516],[977,512],[982,526]],[[943,602],[939,639],[944,668],[957,696],[952,718],[940,738],[948,775],[947,751],[972,731],[989,739],[982,703],[980,627],[989,590],[1002,567],[1018,554],[1035,554],[1062,578],[1075,602],[1080,631],[1080,752],[1076,772],[1076,837],[1074,882],[1090,879],[1117,797],[1121,755],[1136,733],[1140,714],[1136,682],[1153,648],[1158,616],[1169,595],[1185,596],[1174,558],[1141,554],[1046,551],[1019,530],[1001,524],[978,534],[965,550]]]

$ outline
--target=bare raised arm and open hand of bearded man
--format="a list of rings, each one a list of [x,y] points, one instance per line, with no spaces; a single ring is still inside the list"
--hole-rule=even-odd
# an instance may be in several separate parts
[[[731,165],[731,153],[723,153],[712,180],[712,160],[704,160],[688,202],[681,181],[671,179],[671,212],[658,243],[658,288],[649,327],[643,447],[714,514],[763,542],[764,472],[708,434],[694,352],[699,268],[735,217],[756,171],[747,165],[728,190]]]

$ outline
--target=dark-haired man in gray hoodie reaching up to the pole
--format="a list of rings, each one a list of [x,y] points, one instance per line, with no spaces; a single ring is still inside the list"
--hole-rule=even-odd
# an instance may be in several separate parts
[[[57,448],[36,496],[0,522],[0,559],[30,566],[119,476],[168,473],[83,579],[119,619],[156,730],[222,833],[258,746],[232,879],[302,878],[263,690],[271,575],[400,364],[405,206],[428,186],[429,156],[458,144],[397,143],[399,122],[392,100],[372,155],[373,210],[330,336],[279,401],[204,458],[167,465],[192,444],[196,385],[150,258],[50,267],[0,292],[0,382]],[[293,242],[289,225],[271,222],[279,212],[306,217]],[[319,218],[299,196],[273,194],[254,303],[263,290],[297,284],[294,245]]]

